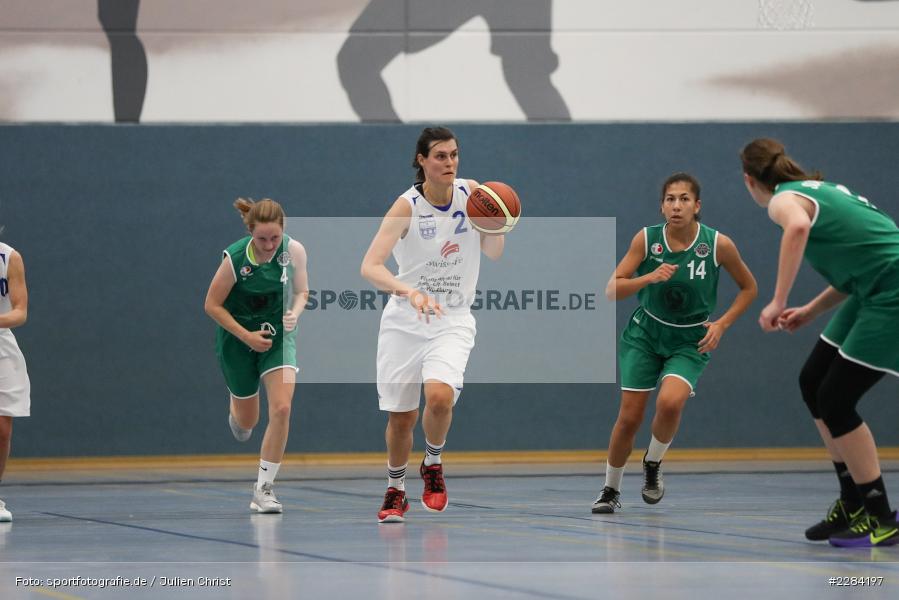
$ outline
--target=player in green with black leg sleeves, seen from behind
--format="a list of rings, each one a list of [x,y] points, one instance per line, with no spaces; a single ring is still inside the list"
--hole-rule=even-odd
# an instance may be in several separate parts
[[[783,229],[777,286],[759,325],[792,332],[840,307],[799,374],[840,483],[840,497],[805,536],[834,546],[899,544],[874,436],[855,409],[884,373],[899,375],[899,228],[866,198],[806,173],[777,140],[750,142],[740,159],[749,194]],[[787,308],[803,258],[830,285]]]

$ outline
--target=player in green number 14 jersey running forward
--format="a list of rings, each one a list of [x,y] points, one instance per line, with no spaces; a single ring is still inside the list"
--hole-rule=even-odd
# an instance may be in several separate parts
[[[662,458],[677,433],[687,398],[693,395],[709,353],[756,297],[755,278],[736,245],[699,222],[700,208],[699,181],[687,173],[670,176],[662,186],[665,223],[644,227],[634,236],[606,287],[610,300],[637,294],[640,305],[619,343],[621,407],[594,513],[613,513],[621,507],[624,466],[656,386],[660,389],[652,436],[643,456],[642,495],[647,504],[662,499]],[[740,291],[730,308],[710,321],[722,266]]]

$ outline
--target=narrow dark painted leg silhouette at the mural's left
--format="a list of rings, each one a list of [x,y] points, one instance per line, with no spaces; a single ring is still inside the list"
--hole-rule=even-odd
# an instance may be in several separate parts
[[[112,104],[117,123],[140,121],[147,91],[147,53],[137,37],[140,0],[97,0],[112,55]]]

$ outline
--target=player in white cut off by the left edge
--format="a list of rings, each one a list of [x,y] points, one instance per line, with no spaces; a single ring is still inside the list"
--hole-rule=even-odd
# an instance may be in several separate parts
[[[31,382],[25,357],[10,331],[27,318],[25,263],[18,252],[0,242],[0,479],[9,456],[12,418],[31,414]],[[0,523],[8,521],[12,521],[12,514],[0,500]]]

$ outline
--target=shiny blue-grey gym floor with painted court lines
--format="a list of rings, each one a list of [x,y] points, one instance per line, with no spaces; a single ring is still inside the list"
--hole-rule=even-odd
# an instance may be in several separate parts
[[[381,525],[374,464],[285,464],[282,515],[249,511],[252,457],[14,464],[0,488],[14,515],[0,524],[0,597],[899,597],[899,546],[803,537],[836,496],[825,461],[671,461],[654,506],[632,463],[613,515],[590,512],[602,463],[445,463],[444,513],[421,507],[410,474],[406,522]],[[899,461],[883,467],[895,505]]]

